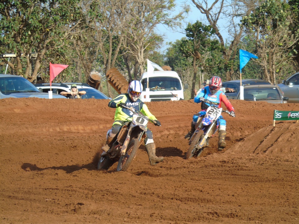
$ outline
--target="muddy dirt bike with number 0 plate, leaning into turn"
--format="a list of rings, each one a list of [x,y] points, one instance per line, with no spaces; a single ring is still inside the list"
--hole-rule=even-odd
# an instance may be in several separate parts
[[[134,160],[141,142],[146,138],[148,121],[156,124],[139,110],[122,106],[133,113],[132,121],[125,122],[108,152],[102,152],[97,169],[108,170],[118,161],[117,171],[126,171]]]

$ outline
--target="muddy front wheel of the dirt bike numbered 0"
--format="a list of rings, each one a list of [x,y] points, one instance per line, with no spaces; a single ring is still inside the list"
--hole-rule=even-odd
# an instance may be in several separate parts
[[[118,161],[117,171],[126,171],[131,165],[133,159],[137,154],[139,148],[139,141],[136,138],[131,139],[126,150],[126,154],[121,156]]]

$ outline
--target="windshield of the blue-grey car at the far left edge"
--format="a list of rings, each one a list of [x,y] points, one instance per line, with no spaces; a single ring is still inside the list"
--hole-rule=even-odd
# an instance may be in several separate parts
[[[14,92],[39,92],[38,89],[23,77],[1,77],[0,90],[3,94]]]

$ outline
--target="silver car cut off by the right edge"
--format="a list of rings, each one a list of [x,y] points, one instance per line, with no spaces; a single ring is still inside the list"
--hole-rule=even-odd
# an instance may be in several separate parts
[[[283,96],[289,98],[289,103],[299,103],[299,72],[278,84]]]

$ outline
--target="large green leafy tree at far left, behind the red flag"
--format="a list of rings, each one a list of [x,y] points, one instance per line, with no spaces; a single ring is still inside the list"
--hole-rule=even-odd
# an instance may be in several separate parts
[[[46,51],[63,45],[69,33],[82,22],[78,3],[79,0],[0,3],[0,39],[11,50],[9,53],[16,54],[15,63],[9,64],[14,74],[23,75],[31,82],[36,79]]]

